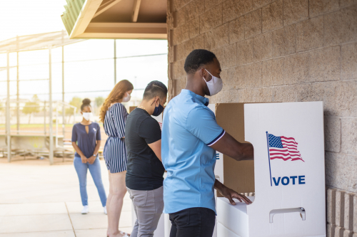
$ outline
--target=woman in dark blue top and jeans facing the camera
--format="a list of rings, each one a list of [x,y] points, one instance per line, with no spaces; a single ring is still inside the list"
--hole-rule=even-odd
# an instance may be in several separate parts
[[[96,184],[104,214],[106,214],[106,191],[104,190],[103,181],[101,181],[101,164],[98,157],[99,147],[101,147],[101,128],[98,123],[91,122],[91,100],[83,100],[81,114],[83,115],[83,120],[76,123],[72,130],[72,145],[76,150],[74,168],[78,174],[79,190],[83,204],[81,214],[88,214],[89,212],[86,190],[88,169],[91,172],[94,184]]]

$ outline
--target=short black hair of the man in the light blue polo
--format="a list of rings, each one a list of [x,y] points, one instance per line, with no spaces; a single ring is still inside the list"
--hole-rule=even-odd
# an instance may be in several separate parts
[[[196,73],[196,70],[203,65],[213,63],[214,58],[216,58],[216,56],[211,51],[206,51],[206,49],[195,49],[188,54],[183,68],[185,68],[187,74]]]

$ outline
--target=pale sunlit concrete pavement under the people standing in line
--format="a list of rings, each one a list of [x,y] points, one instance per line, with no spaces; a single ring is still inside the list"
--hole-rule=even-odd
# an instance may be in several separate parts
[[[103,160],[101,171],[108,195],[109,179]],[[0,237],[106,236],[107,216],[90,174],[87,174],[87,191],[89,214],[82,215],[79,181],[71,162],[49,166],[48,160],[8,163],[0,158]],[[128,194],[119,228],[131,232]]]

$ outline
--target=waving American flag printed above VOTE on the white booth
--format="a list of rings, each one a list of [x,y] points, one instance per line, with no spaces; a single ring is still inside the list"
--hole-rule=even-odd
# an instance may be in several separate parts
[[[276,137],[268,134],[269,157],[270,159],[302,160],[298,152],[298,142],[293,137]],[[303,161],[304,162],[304,161]]]

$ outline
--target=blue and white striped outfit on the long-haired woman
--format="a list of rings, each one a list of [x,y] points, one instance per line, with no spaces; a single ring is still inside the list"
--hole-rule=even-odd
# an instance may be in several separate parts
[[[108,135],[104,145],[104,159],[106,167],[111,173],[124,172],[126,170],[125,148],[125,122],[128,117],[126,108],[121,103],[109,107],[104,118],[104,131]]]

